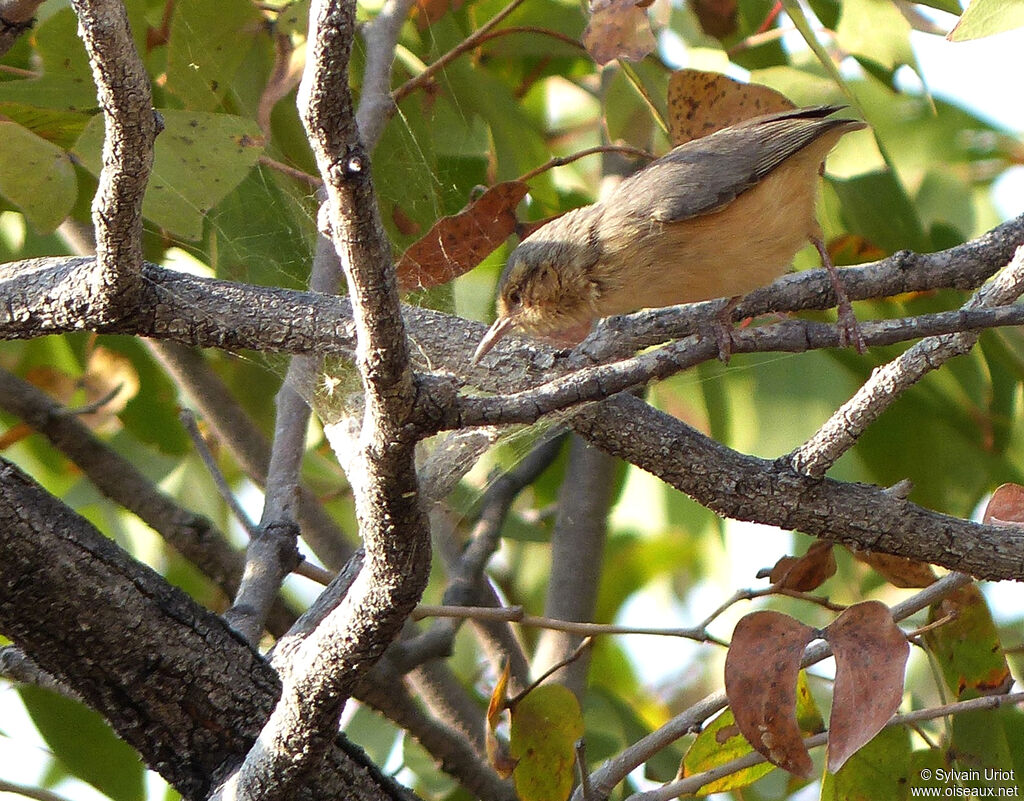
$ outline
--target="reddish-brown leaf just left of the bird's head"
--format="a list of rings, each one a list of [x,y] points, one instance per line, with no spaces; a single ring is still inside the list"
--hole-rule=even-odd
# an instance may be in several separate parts
[[[451,217],[441,217],[398,260],[402,291],[429,289],[468,272],[515,230],[515,207],[526,197],[522,181],[497,183]]]

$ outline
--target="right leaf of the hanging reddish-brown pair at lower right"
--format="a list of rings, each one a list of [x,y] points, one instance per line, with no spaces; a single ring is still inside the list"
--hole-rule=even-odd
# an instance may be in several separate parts
[[[824,630],[824,638],[836,655],[828,718],[828,770],[835,773],[899,709],[910,643],[879,601],[846,609]]]

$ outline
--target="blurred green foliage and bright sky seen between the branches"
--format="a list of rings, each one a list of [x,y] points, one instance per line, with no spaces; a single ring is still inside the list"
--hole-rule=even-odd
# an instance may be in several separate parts
[[[294,82],[289,86],[286,80],[287,91],[272,108],[267,108],[267,87],[275,64],[297,77],[306,5],[127,0],[166,125],[144,207],[148,260],[233,281],[305,285],[314,247],[315,202],[301,173],[312,174],[314,166],[295,111]],[[505,0],[419,0],[401,30],[393,85],[400,87],[458,47],[504,5]],[[466,206],[476,187],[517,178],[554,157],[606,143],[664,153],[669,142],[658,118],[666,113],[669,78],[680,67],[762,83],[801,106],[849,103],[869,123],[870,131],[844,138],[823,183],[822,225],[841,261],[869,260],[900,249],[948,248],[1009,215],[1008,209],[996,208],[991,191],[1008,171],[1021,169],[1020,131],[931,94],[930,76],[915,56],[915,42],[942,36],[955,22],[952,14],[962,10],[955,0],[782,5],[785,10],[776,14],[778,9],[763,0],[655,0],[647,10],[655,51],[642,60],[612,61],[603,69],[579,44],[588,24],[580,2],[528,0],[518,5],[478,46],[454,58],[433,80],[401,93],[373,159],[395,255],[439,217]],[[1010,13],[991,5],[998,13]],[[378,10],[374,3],[360,5],[360,18]],[[102,130],[76,27],[68,4],[49,0],[34,29],[0,60],[4,261],[73,252],[75,231],[89,222]],[[1019,33],[1004,36],[1017,36],[1024,44]],[[360,48],[361,40],[353,56],[356,91],[365,62]],[[825,61],[822,53],[828,56]],[[1017,76],[979,72],[975,79],[979,86],[1008,84],[1006,102],[1020,102],[1009,86]],[[521,219],[543,219],[591,202],[601,173],[596,156],[541,172],[529,180]],[[1024,203],[1019,198],[1017,203],[1019,211]],[[510,240],[474,271],[412,300],[488,320],[497,277],[514,244]],[[808,266],[817,266],[810,248],[796,262],[797,268]],[[857,309],[862,318],[903,315],[961,302],[959,293],[938,292],[859,303]],[[833,475],[881,486],[909,478],[911,500],[959,516],[971,516],[997,484],[1024,481],[1021,344],[1014,330],[984,334],[969,356],[908,391]],[[706,365],[665,381],[650,389],[649,398],[730,447],[772,458],[813,433],[873,367],[900,349],[873,348],[864,356],[852,351],[736,356],[727,368]],[[211,351],[205,356],[269,435],[284,363],[258,353]],[[70,407],[120,385],[114,399],[89,416],[95,432],[182,505],[243,542],[179,423],[179,409],[188,402],[143,343],[90,333],[5,342],[0,367]],[[102,498],[60,453],[6,412],[0,412],[0,419],[7,458],[168,581],[209,606],[223,608],[224,599],[205,579],[137,519]],[[507,441],[463,481],[449,500],[462,528],[472,521],[490,469],[513,464],[534,437],[522,434]],[[354,542],[344,477],[315,424],[307,449],[308,484]],[[220,453],[219,461],[243,503],[258,513],[259,489],[226,454]],[[519,499],[493,566],[508,601],[528,610],[543,608],[551,507],[564,461],[556,460]],[[620,468],[617,487],[605,554],[611,568],[599,592],[601,622],[694,623],[737,587],[763,586],[755,578],[758,567],[802,552],[809,541],[724,523],[633,468]],[[442,589],[438,575],[427,600],[437,601]],[[315,589],[293,579],[288,591],[305,601]],[[847,554],[839,555],[839,572],[822,591],[843,603],[868,596],[892,601],[906,592],[885,584]],[[996,604],[996,625],[987,642],[1010,648],[1019,670],[1024,613],[1020,595],[1016,598],[1016,606]],[[812,626],[830,619],[824,609],[793,600],[773,605]],[[746,608],[741,604],[723,616],[713,631],[727,637]],[[453,666],[485,704],[495,677],[468,634],[458,643]],[[719,688],[721,659],[721,649],[711,645],[600,639],[585,703],[588,758],[598,764]],[[826,685],[827,678],[818,680],[817,687]],[[948,700],[945,683],[920,654],[913,657],[908,685],[915,706]],[[813,682],[812,689],[818,691]],[[0,707],[6,710],[0,715],[0,776],[55,788],[75,799],[174,797],[152,775],[146,778],[137,758],[78,705],[0,683]],[[999,765],[1016,766],[1017,775],[1024,776],[1020,717],[1008,711],[999,718],[1005,719],[1005,740],[991,753],[997,752]],[[41,734],[40,745],[25,733],[30,718]],[[390,723],[355,705],[346,719],[355,742],[425,797],[457,797],[454,782]],[[949,744],[952,734],[943,725],[930,730],[933,745]],[[991,731],[959,733],[982,735]],[[671,778],[686,745],[667,749],[630,786]],[[913,749],[925,755],[915,759],[931,758],[927,741],[915,737]],[[76,781],[66,781],[71,777]],[[807,798],[808,792],[801,793],[776,770],[741,791],[741,797]]]

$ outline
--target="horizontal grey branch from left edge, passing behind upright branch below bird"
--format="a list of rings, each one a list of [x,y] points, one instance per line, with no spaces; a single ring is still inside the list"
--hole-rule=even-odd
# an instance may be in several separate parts
[[[843,281],[852,299],[947,287],[973,289],[1005,266],[1020,245],[1024,245],[1024,215],[949,250],[899,253],[870,264],[844,267]],[[138,305],[122,309],[120,319],[109,321],[98,313],[81,284],[80,273],[88,263],[81,258],[39,258],[0,266],[0,293],[8,301],[0,307],[0,338],[26,339],[87,329],[227,350],[349,357],[354,351],[355,331],[347,298],[199,278],[146,264]],[[829,287],[824,270],[786,276],[752,292],[735,313],[754,317],[827,308]],[[470,367],[469,362],[485,330],[482,325],[412,306],[406,306],[403,312],[416,350],[428,360],[424,368],[459,376],[488,391],[507,391],[509,387],[537,386],[581,364],[627,357],[638,348],[695,333],[719,305],[712,301],[610,318],[571,359],[559,357],[559,351],[543,344],[510,337],[488,354],[486,365],[476,367]],[[1004,323],[1011,325],[1010,319],[1008,314]],[[880,323],[886,333],[878,333],[878,341],[891,343],[947,333],[957,325],[950,319],[940,320],[944,320],[941,326],[931,330],[922,330],[916,323]],[[772,335],[779,336],[787,349],[833,346],[827,327],[812,324],[801,329],[799,323],[791,325],[797,326],[785,329],[792,335]],[[754,329],[757,336],[764,336],[762,329],[772,327]],[[808,342],[807,331],[815,332],[814,343]],[[738,344],[754,347],[744,344],[748,334],[735,332],[734,337]],[[775,344],[778,341],[769,337],[768,341],[759,340],[757,347]]]

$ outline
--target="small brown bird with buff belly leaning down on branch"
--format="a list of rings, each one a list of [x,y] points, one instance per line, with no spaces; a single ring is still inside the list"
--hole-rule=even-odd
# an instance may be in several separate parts
[[[509,257],[474,364],[512,329],[575,344],[599,318],[737,298],[781,276],[808,240],[840,297],[841,335],[860,347],[814,213],[825,156],[865,127],[829,117],[842,108],[768,114],[688,141],[536,230]]]

